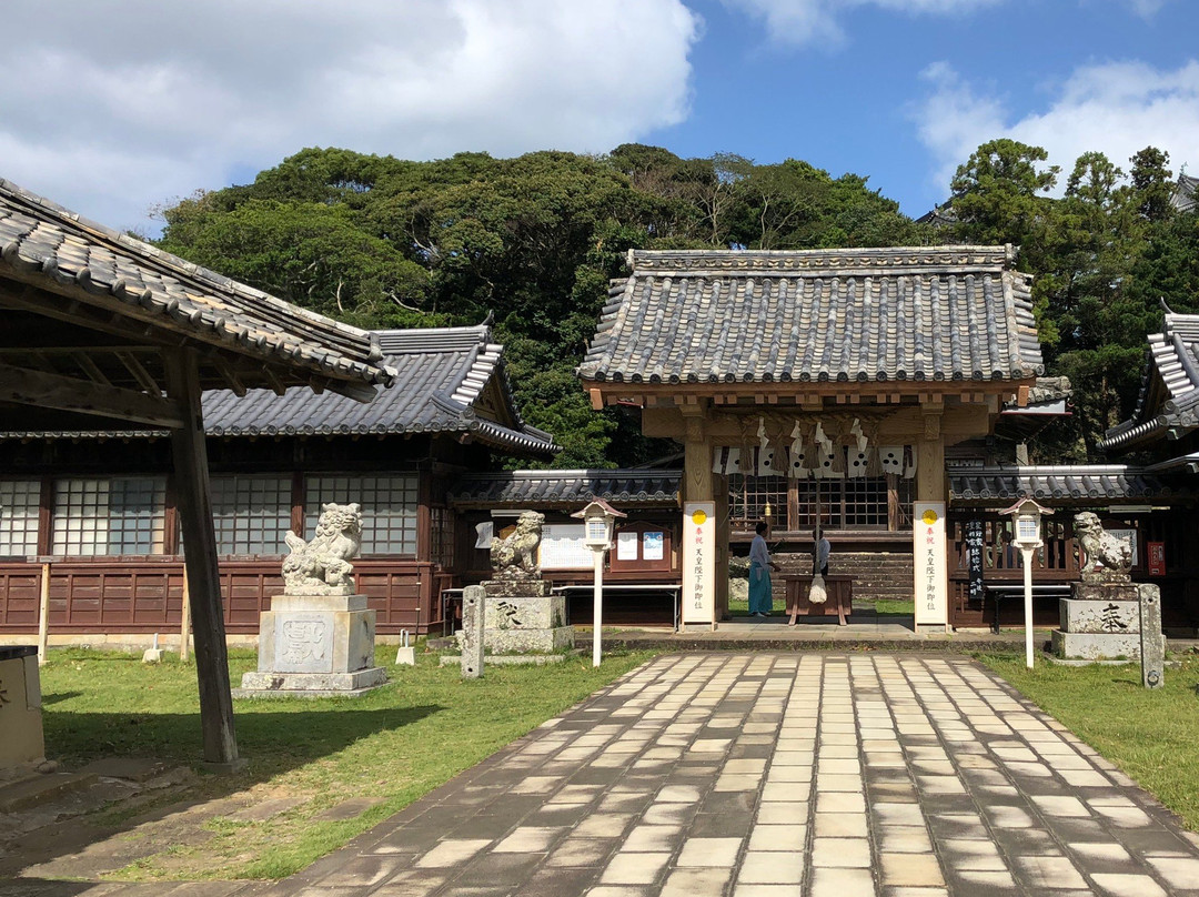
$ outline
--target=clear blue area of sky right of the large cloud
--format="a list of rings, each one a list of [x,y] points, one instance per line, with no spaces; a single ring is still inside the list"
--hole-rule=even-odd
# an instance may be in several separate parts
[[[1189,0],[1141,12],[1119,0],[1011,0],[946,14],[861,5],[836,14],[839,41],[788,40],[785,29],[772,32],[731,4],[691,6],[705,20],[692,53],[691,114],[647,134],[647,143],[686,156],[722,150],[758,162],[796,157],[833,175],[868,175],[872,187],[914,216],[945,199],[952,168],[978,143],[1012,136],[1022,121],[1052,113],[1079,70],[1143,62],[1175,72],[1199,55],[1199,4]],[[1199,77],[1192,76],[1192,90],[1181,102],[1197,102],[1195,88]],[[938,127],[935,101],[960,89],[980,101],[958,110],[963,133],[922,137],[922,126]],[[1163,98],[1169,100],[1149,91],[1126,102],[1146,109]],[[992,103],[999,107],[996,118],[983,114]],[[1169,103],[1162,112],[1170,115]],[[1192,107],[1192,138],[1199,138],[1197,113]],[[1001,127],[988,127],[996,120]],[[1123,164],[1134,151],[1129,145],[1140,149],[1174,137],[1164,128],[1155,132],[1150,120],[1135,122],[1131,133],[1087,134],[1083,128],[1072,134],[1062,128],[1054,145],[1042,145],[1052,150],[1050,162],[1062,167],[1062,177],[1085,138],[1093,138],[1085,149],[1105,151]],[[1040,136],[1058,130],[1052,120],[1044,128],[1026,124],[1023,131]],[[1175,173],[1186,161],[1199,173],[1199,143],[1164,149]]]

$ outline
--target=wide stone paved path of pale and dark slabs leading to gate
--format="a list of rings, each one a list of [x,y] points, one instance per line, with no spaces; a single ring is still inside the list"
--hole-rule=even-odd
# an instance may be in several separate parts
[[[969,660],[674,655],[276,892],[1199,895],[1199,837]]]

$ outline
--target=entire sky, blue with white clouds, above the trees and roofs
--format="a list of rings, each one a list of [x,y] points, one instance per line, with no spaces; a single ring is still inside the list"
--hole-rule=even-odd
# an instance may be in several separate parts
[[[1199,173],[1194,0],[7,0],[0,177],[119,228],[305,146],[794,157],[918,216],[994,137]],[[96,40],[96,35],[104,40]],[[36,85],[36,89],[32,86]]]

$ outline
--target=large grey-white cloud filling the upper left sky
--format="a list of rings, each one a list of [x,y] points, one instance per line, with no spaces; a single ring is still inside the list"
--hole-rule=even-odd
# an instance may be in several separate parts
[[[0,177],[113,227],[303,146],[603,151],[688,113],[682,0],[8,0]]]

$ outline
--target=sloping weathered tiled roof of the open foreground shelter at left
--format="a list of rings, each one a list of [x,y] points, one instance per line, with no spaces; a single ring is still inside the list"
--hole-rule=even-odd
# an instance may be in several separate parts
[[[0,179],[0,276],[271,361],[288,383],[387,384],[375,338],[90,222]],[[68,302],[62,299],[64,305]],[[351,391],[355,387],[351,386]]]

